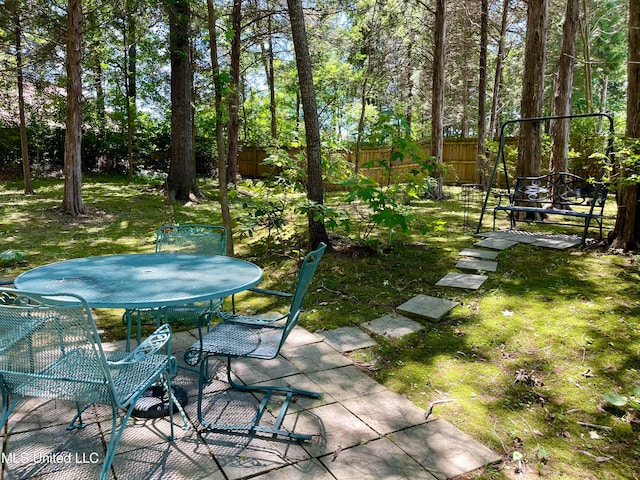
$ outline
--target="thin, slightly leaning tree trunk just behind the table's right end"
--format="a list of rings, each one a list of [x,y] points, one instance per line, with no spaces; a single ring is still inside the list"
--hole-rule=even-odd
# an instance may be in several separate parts
[[[207,0],[207,19],[209,27],[209,49],[211,54],[211,68],[213,74],[214,108],[216,112],[216,148],[218,151],[218,189],[220,191],[220,210],[222,212],[222,223],[227,229],[227,255],[234,255],[233,246],[233,223],[229,209],[229,190],[227,188],[227,158],[224,144],[224,111],[222,103],[222,80],[220,78],[220,62],[218,61],[218,33],[216,29],[216,10],[213,0]]]

